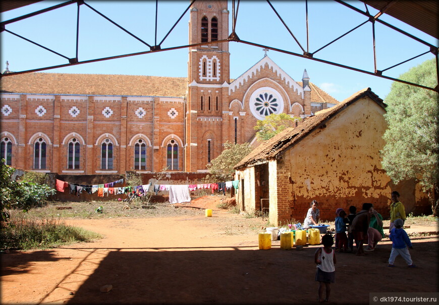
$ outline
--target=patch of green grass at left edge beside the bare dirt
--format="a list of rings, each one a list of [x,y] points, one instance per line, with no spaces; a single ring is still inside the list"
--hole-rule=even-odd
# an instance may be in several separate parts
[[[26,217],[14,213],[8,223],[2,224],[0,249],[46,249],[66,243],[101,238],[98,233],[66,225],[57,218]]]

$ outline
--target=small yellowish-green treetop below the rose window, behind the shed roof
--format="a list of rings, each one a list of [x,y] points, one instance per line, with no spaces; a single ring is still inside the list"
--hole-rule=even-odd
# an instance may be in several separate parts
[[[301,118],[294,116],[291,117],[286,113],[272,113],[265,116],[264,119],[258,120],[254,130],[256,130],[256,136],[259,140],[265,141],[279,134],[286,128],[295,127],[296,121],[300,121]]]

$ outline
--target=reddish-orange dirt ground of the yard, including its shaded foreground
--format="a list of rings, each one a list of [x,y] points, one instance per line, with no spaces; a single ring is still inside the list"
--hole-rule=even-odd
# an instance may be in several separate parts
[[[209,200],[193,202],[208,207]],[[213,202],[213,200],[212,200]],[[213,203],[211,207],[214,208]],[[315,303],[319,246],[258,249],[261,218],[214,209],[148,218],[66,218],[104,235],[50,250],[2,254],[1,303]],[[265,220],[266,221],[266,220]],[[253,227],[253,229],[248,228]],[[256,230],[254,230],[256,228]],[[407,231],[436,231],[411,226]],[[414,263],[388,268],[384,238],[365,257],[337,253],[330,303],[369,303],[369,292],[437,292],[438,236],[412,236]],[[427,279],[427,280],[426,280]],[[99,288],[113,289],[101,293]]]

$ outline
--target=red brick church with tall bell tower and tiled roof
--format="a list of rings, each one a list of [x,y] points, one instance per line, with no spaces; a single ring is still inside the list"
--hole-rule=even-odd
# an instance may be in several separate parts
[[[306,70],[296,82],[267,55],[230,79],[228,43],[202,45],[228,34],[227,1],[197,1],[187,77],[2,77],[1,158],[59,174],[205,172],[226,141],[257,145],[253,127],[266,115],[305,117],[338,103]]]

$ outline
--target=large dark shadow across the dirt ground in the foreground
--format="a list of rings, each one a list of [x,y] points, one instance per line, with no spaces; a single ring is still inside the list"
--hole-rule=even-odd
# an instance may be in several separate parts
[[[369,292],[435,292],[437,241],[414,248],[417,269],[401,257],[397,268],[388,268],[391,245],[365,257],[338,253],[332,300],[369,303]],[[315,303],[315,250],[116,249],[68,303]],[[100,293],[105,284],[113,290]]]

